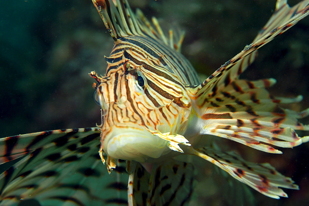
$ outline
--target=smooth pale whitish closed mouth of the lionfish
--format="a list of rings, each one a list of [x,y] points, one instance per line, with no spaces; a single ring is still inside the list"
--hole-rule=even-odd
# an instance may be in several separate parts
[[[167,147],[168,141],[151,134],[142,126],[114,125],[103,137],[104,152],[115,159],[143,163],[171,151]]]

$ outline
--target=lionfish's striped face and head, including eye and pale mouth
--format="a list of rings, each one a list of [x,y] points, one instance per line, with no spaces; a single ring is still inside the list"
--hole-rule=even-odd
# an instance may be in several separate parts
[[[101,150],[114,159],[138,162],[176,150],[169,138],[184,133],[191,110],[185,87],[172,85],[177,76],[148,58],[137,61],[131,49],[113,51],[105,57],[106,76],[90,74],[98,81],[94,88],[103,111]]]

